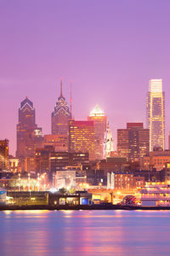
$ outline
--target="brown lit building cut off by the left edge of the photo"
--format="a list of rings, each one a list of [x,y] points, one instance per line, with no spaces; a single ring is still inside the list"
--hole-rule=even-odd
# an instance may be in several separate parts
[[[0,169],[8,169],[8,140],[0,140]]]

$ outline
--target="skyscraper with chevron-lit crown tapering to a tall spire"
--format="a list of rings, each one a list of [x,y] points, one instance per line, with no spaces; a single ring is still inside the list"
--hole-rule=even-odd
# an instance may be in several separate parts
[[[60,81],[60,96],[56,102],[54,112],[51,115],[52,134],[67,135],[69,131],[68,121],[71,113],[63,96],[63,84]]]

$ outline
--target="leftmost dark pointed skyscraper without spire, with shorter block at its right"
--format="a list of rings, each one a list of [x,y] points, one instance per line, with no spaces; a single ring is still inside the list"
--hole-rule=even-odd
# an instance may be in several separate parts
[[[20,103],[19,123],[17,125],[16,157],[33,157],[36,148],[42,147],[42,128],[36,125],[35,108],[26,97]]]

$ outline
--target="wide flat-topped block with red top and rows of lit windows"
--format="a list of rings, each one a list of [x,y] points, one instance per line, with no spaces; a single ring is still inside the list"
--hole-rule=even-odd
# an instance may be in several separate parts
[[[69,121],[69,152],[88,152],[89,160],[95,160],[94,121]]]

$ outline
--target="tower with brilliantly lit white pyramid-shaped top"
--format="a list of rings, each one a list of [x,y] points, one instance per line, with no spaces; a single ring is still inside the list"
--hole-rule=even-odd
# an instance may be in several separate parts
[[[98,105],[95,106],[93,111],[88,116],[88,121],[94,121],[95,125],[95,158],[100,160],[103,158],[103,147],[104,147],[104,137],[107,124],[107,117],[105,113],[99,108]]]

